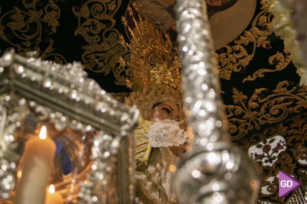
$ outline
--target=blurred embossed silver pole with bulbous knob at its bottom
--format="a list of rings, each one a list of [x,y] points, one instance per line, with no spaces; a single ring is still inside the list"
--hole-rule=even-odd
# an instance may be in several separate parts
[[[194,142],[177,165],[173,187],[181,203],[252,203],[258,177],[247,153],[227,141],[206,4],[177,0],[179,55],[188,125]]]

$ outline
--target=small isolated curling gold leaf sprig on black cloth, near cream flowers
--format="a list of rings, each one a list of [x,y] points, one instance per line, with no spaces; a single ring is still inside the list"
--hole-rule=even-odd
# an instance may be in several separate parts
[[[270,70],[270,69],[260,69],[257,70],[253,76],[249,75],[247,78],[243,79],[243,83],[245,81],[253,81],[255,80],[257,77],[264,77],[265,72],[275,72],[275,71],[280,71],[286,68],[286,66],[288,66],[288,64],[291,62],[291,55],[290,52],[287,49],[283,50],[285,55],[284,56],[282,53],[277,52],[275,55],[272,55],[269,57],[268,61],[271,65],[275,65],[275,70]]]

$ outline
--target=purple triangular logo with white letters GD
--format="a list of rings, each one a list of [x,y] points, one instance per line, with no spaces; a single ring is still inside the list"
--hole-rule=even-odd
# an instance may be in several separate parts
[[[279,197],[285,196],[302,185],[286,172],[279,172]]]

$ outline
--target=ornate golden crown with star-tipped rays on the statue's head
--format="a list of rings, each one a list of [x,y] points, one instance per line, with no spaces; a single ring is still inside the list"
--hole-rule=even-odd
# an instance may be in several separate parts
[[[133,9],[138,13],[138,6],[132,3]],[[143,9],[142,5],[140,7]],[[169,34],[162,33],[154,25],[153,13],[150,11],[152,21],[147,17],[143,19],[138,13],[138,20],[133,16],[133,10],[128,6],[128,12],[134,21],[134,29],[127,26],[125,17],[123,24],[128,27],[131,34],[131,43],[122,43],[130,48],[130,61],[120,59],[122,66],[131,68],[130,79],[126,85],[133,91],[142,91],[145,87],[167,86],[182,93],[181,86],[181,61],[178,50],[172,45]],[[143,12],[145,13],[144,9]]]

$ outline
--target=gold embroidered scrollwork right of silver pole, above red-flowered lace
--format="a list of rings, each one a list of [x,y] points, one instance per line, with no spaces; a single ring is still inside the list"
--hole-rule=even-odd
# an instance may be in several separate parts
[[[231,140],[242,138],[249,130],[259,130],[264,124],[282,121],[289,114],[307,108],[306,87],[292,87],[288,81],[279,82],[271,94],[267,94],[270,91],[266,88],[255,89],[249,99],[236,88],[232,91],[235,105],[224,105]]]

